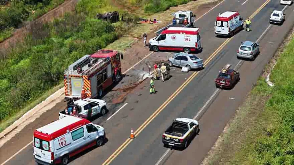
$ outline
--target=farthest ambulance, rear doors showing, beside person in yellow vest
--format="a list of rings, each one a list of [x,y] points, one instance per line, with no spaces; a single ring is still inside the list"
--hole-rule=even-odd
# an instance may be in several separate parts
[[[227,11],[217,16],[214,24],[214,33],[224,36],[233,36],[237,31],[243,30],[243,18],[236,11]]]

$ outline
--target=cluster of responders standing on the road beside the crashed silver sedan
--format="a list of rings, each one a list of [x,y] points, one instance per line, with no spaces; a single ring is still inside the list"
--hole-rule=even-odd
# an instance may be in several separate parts
[[[151,77],[151,80],[150,80],[150,94],[155,93],[154,80],[158,79],[159,72],[161,75],[161,81],[164,82],[166,78],[167,79],[170,78],[170,70],[171,70],[169,65],[165,64],[164,62],[161,63],[160,66],[158,66],[157,63],[155,63],[153,66],[153,69],[154,69],[153,77]]]

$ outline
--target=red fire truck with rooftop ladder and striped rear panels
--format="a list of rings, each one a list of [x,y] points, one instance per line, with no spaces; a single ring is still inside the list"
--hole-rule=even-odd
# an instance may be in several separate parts
[[[103,91],[122,78],[120,60],[123,54],[113,50],[99,50],[85,55],[64,71],[65,99],[101,97]]]

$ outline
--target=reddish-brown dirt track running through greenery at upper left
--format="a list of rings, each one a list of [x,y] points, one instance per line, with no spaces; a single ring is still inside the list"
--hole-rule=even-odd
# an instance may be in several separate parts
[[[77,2],[78,0],[66,0],[64,3],[62,3],[55,9],[52,9],[40,18],[30,22],[26,22],[22,28],[14,31],[13,35],[10,38],[0,43],[0,53],[4,53],[6,49],[13,48],[17,42],[23,41],[33,25],[40,23],[43,24],[45,22],[52,21],[54,20],[54,18],[63,16],[63,14],[66,12],[74,11]]]

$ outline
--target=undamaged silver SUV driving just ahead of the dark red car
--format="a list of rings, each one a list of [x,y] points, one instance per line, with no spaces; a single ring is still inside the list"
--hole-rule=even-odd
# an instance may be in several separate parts
[[[237,50],[237,58],[247,58],[254,60],[254,58],[259,54],[258,43],[252,41],[241,42],[241,46]]]

